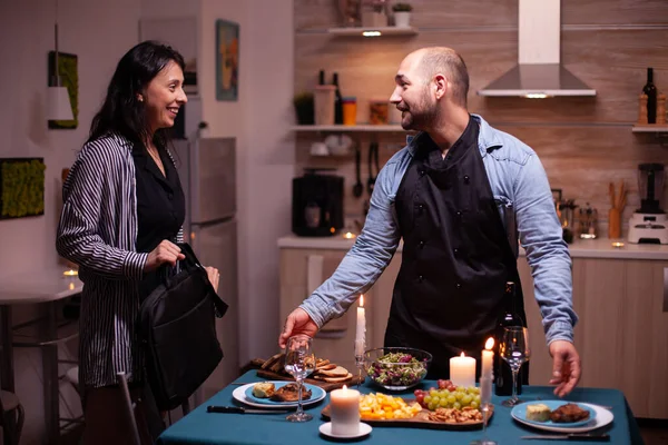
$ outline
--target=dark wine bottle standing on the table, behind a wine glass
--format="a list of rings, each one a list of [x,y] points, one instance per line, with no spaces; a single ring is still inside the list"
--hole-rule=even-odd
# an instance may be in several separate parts
[[[510,366],[501,357],[499,346],[503,342],[503,328],[510,326],[524,326],[524,320],[517,310],[515,284],[505,283],[503,295],[503,316],[499,320],[494,334],[494,394],[498,396],[509,396],[512,394],[512,372]],[[522,378],[518,376],[518,394],[522,394]]]

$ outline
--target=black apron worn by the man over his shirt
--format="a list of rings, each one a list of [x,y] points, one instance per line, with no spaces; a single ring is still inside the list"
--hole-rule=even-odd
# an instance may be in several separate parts
[[[517,260],[497,209],[478,148],[478,121],[469,119],[443,159],[426,134],[396,192],[403,237],[385,346],[433,355],[430,378],[449,378],[450,357],[477,358],[504,309],[508,280],[515,281],[515,310],[525,320]]]

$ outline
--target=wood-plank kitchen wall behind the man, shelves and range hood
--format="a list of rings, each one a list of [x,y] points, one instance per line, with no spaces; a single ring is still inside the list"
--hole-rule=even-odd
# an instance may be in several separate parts
[[[327,28],[340,26],[335,0],[295,0],[295,92],[311,90],[317,73],[327,78],[336,71],[343,96],[357,98],[357,122],[367,121],[369,101],[389,98],[394,75],[405,55],[426,46],[458,50],[471,77],[469,109],[491,125],[532,147],[539,155],[552,188],[577,205],[589,202],[599,211],[599,234],[607,236],[610,208],[608,185],[626,182],[629,190],[622,215],[622,235],[639,207],[637,166],[662,162],[668,167],[668,141],[655,134],[632,134],[638,95],[646,68],[655,68],[659,91],[668,91],[668,41],[660,38],[668,26],[668,2],[650,0],[642,9],[608,0],[562,0],[562,63],[591,88],[591,98],[483,98],[475,91],[497,79],[517,62],[517,0],[414,0],[412,26],[419,34],[407,37],[333,37]],[[613,4],[611,4],[613,3]],[[316,14],[314,11],[318,11]],[[596,16],[589,11],[597,11]],[[584,20],[584,17],[588,19]],[[591,23],[591,17],[597,17]],[[584,26],[587,24],[587,26]],[[628,26],[635,29],[629,30]],[[651,43],[648,43],[651,42]],[[367,151],[380,142],[381,166],[403,146],[405,134],[351,132],[362,149],[362,182],[369,177]],[[315,157],[311,145],[326,135],[298,132],[296,165],[336,168],[345,177],[346,216],[360,218],[363,201],[353,196],[355,157]],[[664,208],[668,210],[668,180]]]

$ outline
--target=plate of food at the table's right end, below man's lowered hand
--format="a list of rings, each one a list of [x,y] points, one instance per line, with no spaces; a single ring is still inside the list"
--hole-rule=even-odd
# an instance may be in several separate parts
[[[514,406],[510,415],[524,425],[558,433],[584,433],[608,425],[613,418],[601,406],[566,400],[525,402]]]

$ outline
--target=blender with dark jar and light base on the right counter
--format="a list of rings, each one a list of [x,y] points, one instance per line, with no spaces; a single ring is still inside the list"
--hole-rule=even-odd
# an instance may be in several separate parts
[[[640,208],[629,220],[629,243],[668,244],[668,216],[661,208],[664,179],[662,164],[638,166]]]

